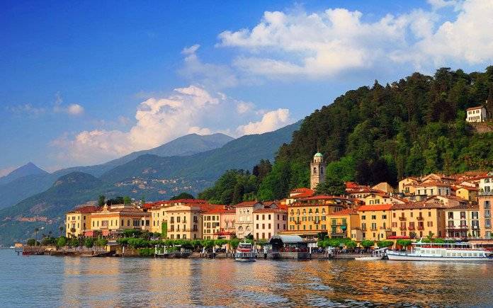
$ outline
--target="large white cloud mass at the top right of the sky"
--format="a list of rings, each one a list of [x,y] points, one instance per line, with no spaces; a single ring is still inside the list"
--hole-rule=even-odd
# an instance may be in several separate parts
[[[251,29],[220,33],[217,46],[243,52],[232,62],[242,72],[271,78],[318,79],[409,62],[419,68],[493,60],[492,1],[429,0],[429,4],[430,11],[387,14],[372,22],[363,20],[360,11],[345,8],[321,13],[266,11]],[[443,21],[438,11],[447,6],[453,6],[455,20]]]

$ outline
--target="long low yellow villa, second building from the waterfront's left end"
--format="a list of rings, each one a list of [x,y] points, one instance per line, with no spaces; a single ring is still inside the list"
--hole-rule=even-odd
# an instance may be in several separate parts
[[[151,229],[151,215],[146,210],[134,205],[104,205],[101,210],[91,213],[91,232],[94,236],[101,232],[103,236],[118,234],[125,229]]]

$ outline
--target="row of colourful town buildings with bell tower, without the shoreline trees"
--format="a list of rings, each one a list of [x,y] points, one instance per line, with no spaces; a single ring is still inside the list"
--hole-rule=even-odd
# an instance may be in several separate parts
[[[288,198],[212,205],[181,199],[146,204],[84,206],[67,212],[66,235],[119,236],[125,229],[159,233],[166,239],[270,239],[275,234],[381,241],[387,239],[490,239],[493,173],[407,177],[388,183],[346,183],[344,195],[316,195],[324,181],[320,153],[310,163],[310,187]]]

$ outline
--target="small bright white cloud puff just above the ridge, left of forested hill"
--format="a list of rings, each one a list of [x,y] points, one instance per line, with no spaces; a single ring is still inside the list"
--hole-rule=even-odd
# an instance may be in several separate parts
[[[258,122],[249,122],[246,125],[240,125],[237,127],[237,134],[241,136],[271,132],[291,122],[293,120],[289,117],[289,110],[279,108],[278,110],[264,113],[262,119]]]

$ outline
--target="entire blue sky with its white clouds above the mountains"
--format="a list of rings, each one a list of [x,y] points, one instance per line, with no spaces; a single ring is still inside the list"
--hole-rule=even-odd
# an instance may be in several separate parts
[[[492,0],[0,1],[0,176],[276,130],[359,86],[493,63]]]

